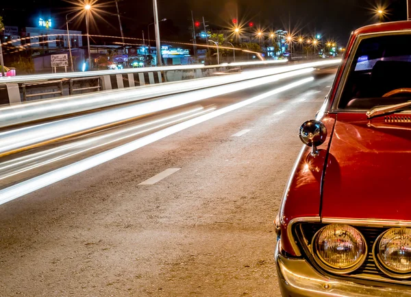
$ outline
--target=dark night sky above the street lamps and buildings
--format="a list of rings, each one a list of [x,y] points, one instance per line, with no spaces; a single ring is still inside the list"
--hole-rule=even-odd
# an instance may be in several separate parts
[[[116,13],[114,2],[99,0],[97,3],[107,13],[101,14],[105,21],[96,19],[97,26],[90,29],[90,34],[119,36],[116,16],[110,15]],[[140,38],[142,29],[147,31],[147,24],[153,21],[152,1],[123,0],[119,5],[125,36]],[[232,19],[238,19],[239,23],[253,21],[256,27],[267,31],[288,29],[290,21],[292,29],[301,29],[306,34],[314,34],[316,30],[324,38],[342,44],[356,27],[377,22],[372,12],[377,5],[387,7],[386,19],[390,21],[406,19],[406,0],[158,0],[160,19],[169,19],[162,23],[162,38],[181,41],[190,39],[188,27],[192,10],[196,21],[204,16],[215,29],[229,26]],[[2,1],[1,15],[5,25],[33,27],[39,16],[49,14],[55,27],[64,28],[64,15],[71,7],[71,3],[61,0]],[[78,21],[73,26],[73,29],[84,30],[84,22]]]

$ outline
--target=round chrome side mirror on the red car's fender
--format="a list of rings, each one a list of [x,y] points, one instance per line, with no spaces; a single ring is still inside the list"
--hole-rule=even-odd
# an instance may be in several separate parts
[[[312,147],[311,154],[316,156],[318,154],[316,147],[322,145],[327,139],[327,128],[321,121],[312,119],[301,125],[299,136],[305,145]]]

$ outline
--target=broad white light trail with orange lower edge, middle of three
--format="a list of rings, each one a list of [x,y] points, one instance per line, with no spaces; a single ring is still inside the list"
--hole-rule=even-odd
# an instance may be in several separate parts
[[[62,119],[50,123],[42,123],[36,126],[3,132],[0,133],[0,156],[21,152],[22,150],[29,150],[38,147],[39,145],[48,144],[49,141],[62,140],[67,136],[76,136],[80,132],[82,134],[92,132],[95,128],[108,126],[109,124],[125,121],[126,119],[134,119],[142,115],[149,115],[154,112],[199,102],[203,99],[245,90],[246,88],[261,86],[262,84],[291,78],[312,71],[314,71],[313,68],[300,69],[297,71],[266,76],[264,78],[215,86],[214,88],[205,88],[192,91],[191,93],[179,93],[170,97],[155,99],[151,102],[142,102],[132,106],[124,106],[113,110],[103,110],[89,115],[82,115],[79,117],[72,117],[69,119]],[[110,96],[110,99],[112,99],[112,96]],[[62,107],[60,106],[60,108]]]

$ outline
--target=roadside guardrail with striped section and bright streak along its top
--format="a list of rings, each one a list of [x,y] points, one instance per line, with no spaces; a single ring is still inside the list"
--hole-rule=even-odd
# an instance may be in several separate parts
[[[90,93],[117,88],[129,88],[132,86],[145,86],[146,84],[159,84],[162,82],[174,82],[178,80],[190,80],[204,78],[213,73],[225,69],[238,69],[249,67],[261,67],[272,64],[282,64],[287,60],[270,60],[257,62],[240,62],[204,66],[187,65],[173,67],[146,67],[140,69],[105,70],[75,73],[53,73],[41,75],[23,75],[19,77],[0,78],[1,85],[14,86],[14,92],[8,90],[5,96],[1,96],[0,104],[16,104],[35,97],[36,99],[51,99],[63,95],[72,95],[73,90],[77,93]],[[95,78],[99,78],[97,84]],[[58,82],[58,88],[53,83]],[[61,87],[60,87],[61,86]]]

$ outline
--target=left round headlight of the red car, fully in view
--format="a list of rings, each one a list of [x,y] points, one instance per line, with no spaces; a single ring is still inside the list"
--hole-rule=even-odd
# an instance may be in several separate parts
[[[348,225],[332,224],[319,230],[312,239],[314,259],[322,268],[345,274],[359,268],[367,254],[360,231]]]

